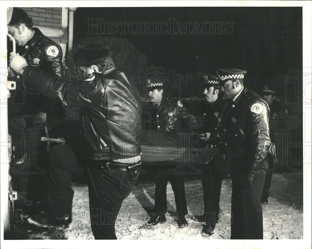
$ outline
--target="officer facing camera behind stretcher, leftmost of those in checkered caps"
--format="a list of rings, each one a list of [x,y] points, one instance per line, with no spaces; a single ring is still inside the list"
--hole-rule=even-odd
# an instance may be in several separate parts
[[[179,122],[188,123],[194,119],[194,116],[183,107],[180,100],[176,103],[171,102],[167,96],[168,91],[164,92],[164,87],[163,82],[159,82],[158,79],[152,78],[148,80],[146,89],[149,96],[149,103],[142,106],[142,116],[146,124],[146,129],[157,130],[177,139],[177,124]],[[177,164],[172,166],[166,165],[166,162],[154,165],[155,209],[151,219],[145,225],[154,226],[166,221],[166,189],[169,178],[178,213],[178,227],[183,228],[188,226],[188,222],[185,219],[188,208],[185,198],[183,168],[177,166]],[[169,169],[172,171],[173,168],[175,168],[174,173],[168,172]]]

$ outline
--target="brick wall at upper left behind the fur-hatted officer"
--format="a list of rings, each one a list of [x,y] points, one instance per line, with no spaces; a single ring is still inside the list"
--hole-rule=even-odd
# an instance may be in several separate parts
[[[44,7],[44,8],[33,8],[23,7],[32,18],[34,25],[51,27],[62,30],[64,34],[61,37],[51,37],[51,39],[57,43],[67,43],[67,28],[62,27],[62,8],[61,7]]]

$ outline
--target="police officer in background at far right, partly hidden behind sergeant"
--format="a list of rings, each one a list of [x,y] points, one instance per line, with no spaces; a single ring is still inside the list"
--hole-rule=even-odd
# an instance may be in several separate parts
[[[276,119],[276,116],[281,115],[288,115],[287,109],[280,104],[279,101],[275,100],[276,91],[273,87],[269,87],[268,85],[264,85],[262,90],[262,98],[268,103],[270,107],[270,119]],[[270,137],[271,142],[275,144],[275,129],[270,129]],[[276,144],[275,144],[276,145]],[[274,169],[275,165],[273,162],[269,160],[269,168],[270,170]],[[262,196],[261,196],[261,203],[268,204],[269,198],[269,190],[271,187],[271,180],[272,180],[272,172],[266,172],[266,179],[264,181]]]

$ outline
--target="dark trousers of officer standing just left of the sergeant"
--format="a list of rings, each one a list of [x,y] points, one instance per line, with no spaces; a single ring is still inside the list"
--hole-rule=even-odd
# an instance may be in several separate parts
[[[202,188],[204,192],[204,217],[207,225],[217,223],[220,213],[220,193],[223,180],[223,156],[215,155],[211,161],[202,165]]]

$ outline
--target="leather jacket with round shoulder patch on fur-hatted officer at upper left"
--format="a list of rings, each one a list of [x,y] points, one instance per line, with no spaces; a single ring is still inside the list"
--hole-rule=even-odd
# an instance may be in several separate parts
[[[34,36],[26,43],[25,46],[18,47],[18,53],[23,56],[31,66],[38,66],[43,71],[63,77],[63,52],[61,46],[53,42],[42,32],[33,28]]]

